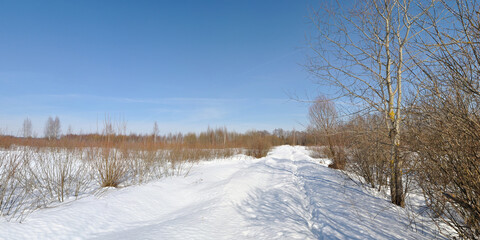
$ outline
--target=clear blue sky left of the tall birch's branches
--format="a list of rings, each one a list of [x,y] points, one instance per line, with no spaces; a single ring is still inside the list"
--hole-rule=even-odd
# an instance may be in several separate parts
[[[0,1],[0,129],[303,129],[307,0]]]

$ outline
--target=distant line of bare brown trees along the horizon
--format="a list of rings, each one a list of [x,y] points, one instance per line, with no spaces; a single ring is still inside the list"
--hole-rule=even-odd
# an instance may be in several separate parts
[[[32,123],[26,118],[22,127],[22,137],[0,136],[3,146],[104,146],[107,142],[111,146],[129,145],[132,148],[261,148],[266,154],[272,146],[278,145],[316,145],[320,139],[310,131],[284,130],[277,128],[272,132],[266,130],[249,130],[244,133],[229,131],[226,127],[210,128],[200,133],[165,133],[160,134],[158,123],[153,125],[150,134],[126,133],[125,123],[112,123],[106,119],[100,133],[76,134],[71,130],[62,134],[59,117],[49,117],[45,123],[43,138],[33,137]],[[7,140],[8,139],[8,140]],[[262,155],[260,154],[260,155]],[[257,154],[258,155],[258,154]]]

